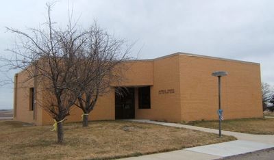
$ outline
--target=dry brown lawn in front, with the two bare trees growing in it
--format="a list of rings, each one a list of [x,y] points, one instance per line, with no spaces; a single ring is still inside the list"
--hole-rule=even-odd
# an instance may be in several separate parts
[[[0,121],[1,159],[116,159],[236,139],[213,133],[119,120],[64,124],[64,144],[51,126]]]

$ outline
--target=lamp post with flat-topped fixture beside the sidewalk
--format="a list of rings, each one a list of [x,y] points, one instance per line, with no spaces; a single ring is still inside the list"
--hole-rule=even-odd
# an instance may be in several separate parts
[[[219,110],[217,111],[219,114],[219,137],[222,137],[221,133],[221,122],[222,122],[222,115],[223,115],[223,110],[221,109],[221,77],[228,75],[227,72],[225,71],[216,71],[212,72],[212,76],[218,77],[218,87],[219,87]]]

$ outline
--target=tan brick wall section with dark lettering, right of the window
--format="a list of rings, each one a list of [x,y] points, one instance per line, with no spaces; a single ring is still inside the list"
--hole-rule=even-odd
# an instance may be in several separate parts
[[[181,120],[179,56],[155,59],[153,62],[153,75],[151,109],[136,109],[136,118],[179,122]],[[160,90],[170,89],[175,90],[175,93],[159,94]],[[138,108],[138,105],[136,105],[136,108]]]

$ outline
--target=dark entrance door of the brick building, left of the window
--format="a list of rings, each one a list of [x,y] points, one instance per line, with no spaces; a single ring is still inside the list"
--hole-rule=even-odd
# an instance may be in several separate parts
[[[115,93],[115,119],[135,118],[134,88],[121,90],[123,95]]]

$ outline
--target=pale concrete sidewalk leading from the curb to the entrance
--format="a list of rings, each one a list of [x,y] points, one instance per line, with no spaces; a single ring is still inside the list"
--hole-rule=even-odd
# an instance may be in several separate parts
[[[133,122],[145,122],[152,124],[160,124],[164,126],[174,126],[179,128],[193,129],[209,133],[219,133],[217,129],[207,129],[199,126],[189,126],[184,124],[156,122],[151,120],[129,120]],[[134,159],[219,159],[232,155],[240,155],[256,150],[263,150],[274,147],[274,135],[252,135],[247,133],[237,133],[231,131],[222,131],[223,135],[232,135],[238,140],[232,142],[223,142],[220,144],[210,144],[206,146],[197,146],[186,148],[184,150],[175,150],[172,152],[163,152],[152,155],[144,155],[140,157],[129,157],[127,160]]]

